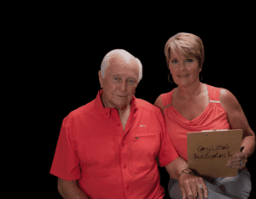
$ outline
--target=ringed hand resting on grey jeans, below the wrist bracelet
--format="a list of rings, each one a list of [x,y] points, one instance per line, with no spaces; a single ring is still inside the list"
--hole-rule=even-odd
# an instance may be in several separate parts
[[[199,196],[199,199],[203,199],[204,196],[205,198],[208,197],[207,185],[201,177],[182,173],[178,178],[178,183],[183,199],[196,199],[197,196]]]

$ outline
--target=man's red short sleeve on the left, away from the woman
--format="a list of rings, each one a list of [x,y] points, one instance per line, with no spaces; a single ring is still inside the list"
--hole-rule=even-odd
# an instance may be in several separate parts
[[[76,180],[81,178],[79,157],[74,150],[71,124],[67,117],[61,125],[61,133],[55,149],[55,156],[50,168],[50,174],[60,179]]]

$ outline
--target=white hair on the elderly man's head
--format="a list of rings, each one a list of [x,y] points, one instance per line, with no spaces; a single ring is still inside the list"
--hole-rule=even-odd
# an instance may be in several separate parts
[[[132,54],[128,53],[124,49],[114,49],[105,55],[105,57],[102,60],[102,65],[101,65],[102,77],[103,78],[105,77],[105,71],[108,68],[109,60],[113,54],[119,54],[127,59],[135,58],[137,60],[138,67],[139,67],[138,82],[140,82],[141,79],[143,78],[143,65],[139,59],[137,59],[136,57],[134,57]]]

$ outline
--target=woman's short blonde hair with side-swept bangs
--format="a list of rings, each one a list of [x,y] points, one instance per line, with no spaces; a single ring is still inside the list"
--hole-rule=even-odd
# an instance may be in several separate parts
[[[205,61],[205,49],[201,38],[191,33],[177,33],[166,42],[165,54],[168,67],[171,50],[172,52],[176,52],[178,50],[185,57],[197,58],[200,68]]]

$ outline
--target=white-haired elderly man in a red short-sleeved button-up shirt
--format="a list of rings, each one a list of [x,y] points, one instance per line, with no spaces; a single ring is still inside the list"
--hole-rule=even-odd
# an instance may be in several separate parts
[[[96,99],[63,120],[50,170],[63,198],[159,199],[158,164],[180,172],[160,110],[134,96],[142,71],[125,50],[109,52]]]

